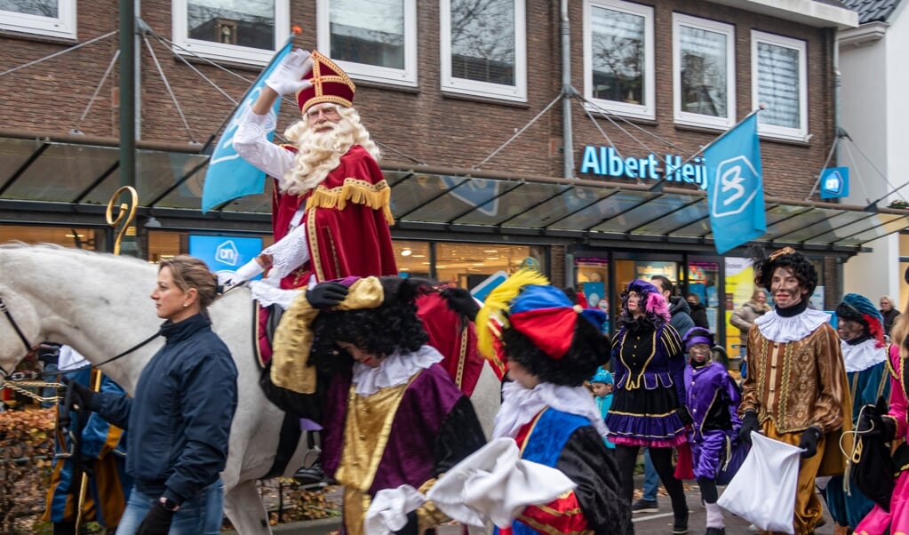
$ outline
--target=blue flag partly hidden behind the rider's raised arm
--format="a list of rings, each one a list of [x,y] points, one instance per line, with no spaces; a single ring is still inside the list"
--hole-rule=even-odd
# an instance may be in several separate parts
[[[293,37],[294,35],[291,35]],[[234,135],[237,126],[239,126],[240,117],[244,116],[246,110],[253,106],[255,99],[262,93],[265,87],[265,79],[275,70],[275,66],[287,56],[294,43],[290,38],[287,43],[272,59],[272,62],[265,67],[262,74],[256,78],[255,83],[246,92],[240,106],[237,106],[234,115],[231,116],[230,122],[225,127],[224,134],[218,140],[215,146],[215,152],[208,160],[208,169],[205,171],[205,183],[202,186],[202,213],[224,204],[225,202],[237,197],[246,195],[258,195],[265,191],[265,173],[260,171],[245,159],[236,154],[234,148]],[[275,116],[278,114],[278,108],[281,106],[281,98],[275,101]],[[275,137],[275,131],[268,133],[268,140]]]

